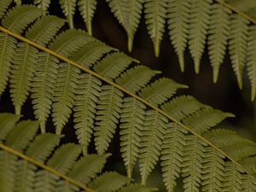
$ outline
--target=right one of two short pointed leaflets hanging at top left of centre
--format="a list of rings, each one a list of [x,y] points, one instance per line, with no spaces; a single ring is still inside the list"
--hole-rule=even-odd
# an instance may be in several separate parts
[[[87,32],[92,35],[91,20],[96,10],[96,0],[78,0],[80,14],[83,16]]]

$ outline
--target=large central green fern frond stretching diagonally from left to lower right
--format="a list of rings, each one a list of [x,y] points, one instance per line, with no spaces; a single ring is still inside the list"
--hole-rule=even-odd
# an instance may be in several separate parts
[[[60,135],[73,113],[85,157],[92,136],[96,152],[106,154],[119,127],[129,182],[137,160],[143,185],[160,161],[167,191],[175,189],[178,177],[186,192],[256,190],[255,143],[212,129],[232,114],[192,96],[174,97],[187,86],[160,78],[159,71],[138,65],[86,32],[62,30],[64,20],[42,9],[9,8],[10,2],[0,6],[0,92],[10,84],[18,116],[31,96],[41,131],[51,116]]]

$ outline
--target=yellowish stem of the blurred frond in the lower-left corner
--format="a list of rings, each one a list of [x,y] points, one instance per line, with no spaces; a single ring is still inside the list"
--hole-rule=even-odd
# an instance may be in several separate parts
[[[51,172],[51,173],[55,174],[56,176],[65,179],[68,183],[71,183],[71,184],[79,187],[80,189],[84,189],[84,191],[96,192],[95,190],[87,188],[83,184],[78,183],[77,181],[73,180],[72,178],[67,177],[66,175],[62,174],[61,172],[58,172],[49,166],[45,166],[44,164],[38,162],[37,160],[33,160],[32,158],[26,156],[25,154],[21,154],[19,151],[16,151],[13,148],[9,148],[8,146],[4,145],[3,143],[0,143],[0,148],[3,148],[3,150],[7,151],[9,154],[15,154],[16,156],[20,157],[21,159],[26,160],[27,162],[32,163],[35,166],[39,166],[40,168],[44,169],[47,172]]]

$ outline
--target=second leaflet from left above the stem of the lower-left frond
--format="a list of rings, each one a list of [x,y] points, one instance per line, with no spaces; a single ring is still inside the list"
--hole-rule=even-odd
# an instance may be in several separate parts
[[[17,151],[24,150],[30,143],[30,140],[35,137],[38,131],[38,123],[30,120],[21,121],[6,139],[6,145],[14,148]]]

